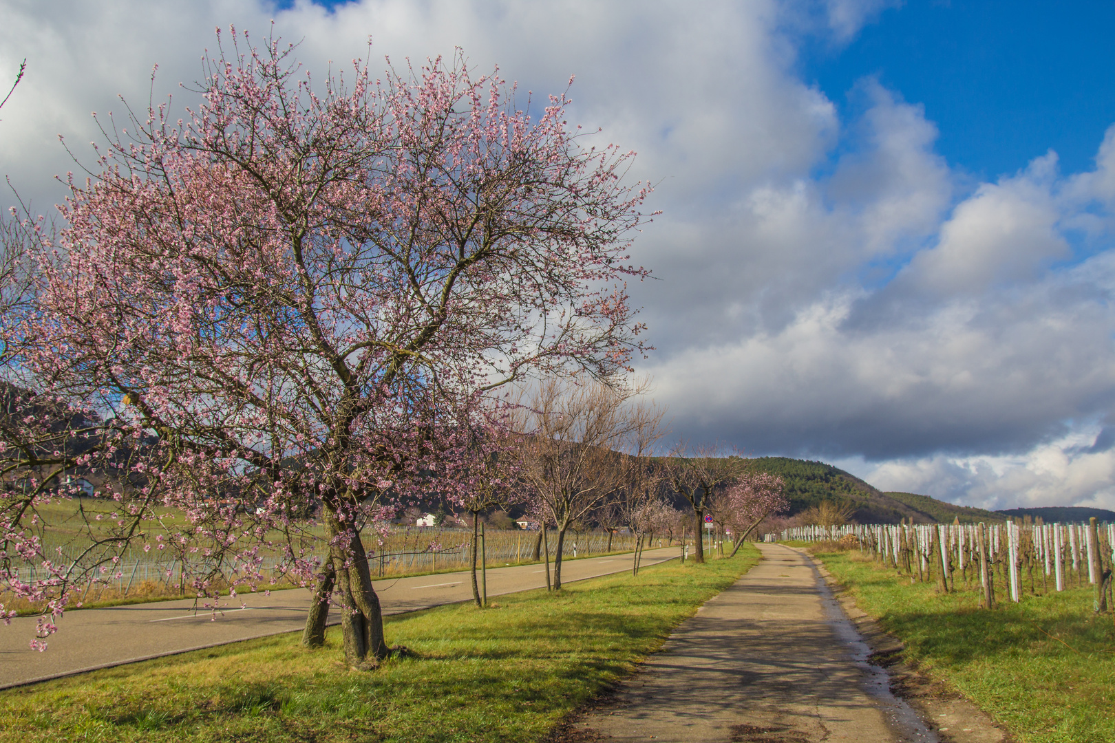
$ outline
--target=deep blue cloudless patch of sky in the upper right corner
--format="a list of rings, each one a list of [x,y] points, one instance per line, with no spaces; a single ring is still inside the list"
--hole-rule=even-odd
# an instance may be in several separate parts
[[[843,45],[813,36],[804,80],[845,117],[866,76],[924,106],[937,151],[979,179],[1054,149],[1067,172],[1090,166],[1115,121],[1115,2],[911,0]]]

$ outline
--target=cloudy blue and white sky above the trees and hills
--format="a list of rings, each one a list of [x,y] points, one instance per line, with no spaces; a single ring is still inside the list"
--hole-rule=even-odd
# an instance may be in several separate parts
[[[0,0],[0,170],[48,213],[90,114],[190,104],[230,25],[314,71],[575,75],[571,121],[656,184],[631,292],[673,436],[1115,508],[1115,3]]]

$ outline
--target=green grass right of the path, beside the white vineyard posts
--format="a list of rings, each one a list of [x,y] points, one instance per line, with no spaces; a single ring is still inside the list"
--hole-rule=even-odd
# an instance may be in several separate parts
[[[816,555],[856,604],[1024,743],[1115,741],[1115,622],[1092,588],[978,607],[975,589],[939,595],[859,553]],[[959,581],[958,581],[959,584]],[[997,599],[1005,598],[1002,586]]]

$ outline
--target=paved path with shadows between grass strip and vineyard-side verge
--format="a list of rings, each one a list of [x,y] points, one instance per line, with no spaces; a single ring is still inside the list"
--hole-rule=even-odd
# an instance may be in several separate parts
[[[812,560],[758,548],[763,560],[682,623],[573,740],[938,741],[865,663],[867,647]]]

